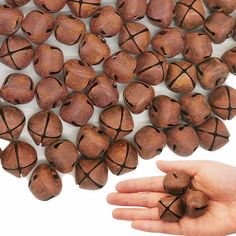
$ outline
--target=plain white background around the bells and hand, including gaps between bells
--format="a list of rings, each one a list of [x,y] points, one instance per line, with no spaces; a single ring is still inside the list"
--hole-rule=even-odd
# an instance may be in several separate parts
[[[115,5],[115,0],[102,1],[103,5]],[[138,2],[138,0],[137,0]],[[5,1],[1,0],[1,4]],[[23,7],[24,13],[36,7],[31,1],[25,7]],[[63,12],[69,13],[69,9],[66,6]],[[88,20],[85,20],[88,23]],[[152,26],[146,19],[141,22],[146,23],[150,29],[152,35],[154,35],[159,28]],[[87,24],[87,29],[89,26]],[[21,30],[17,34],[22,34]],[[0,43],[2,43],[4,37],[0,37]],[[118,49],[117,37],[108,39],[112,52]],[[78,59],[78,45],[65,46],[57,42],[54,35],[50,37],[48,43],[59,46],[65,55],[65,60],[77,58]],[[214,56],[221,57],[224,51],[236,46],[236,43],[232,39],[228,39],[224,44],[214,45]],[[101,66],[97,66],[96,70],[98,73],[101,72]],[[14,71],[10,68],[0,64],[0,83],[2,84],[5,77],[13,73]],[[34,82],[39,81],[39,77],[33,71],[32,64],[22,71],[32,77]],[[60,78],[60,76],[58,76]],[[236,78],[230,74],[227,84],[236,88]],[[122,85],[119,85],[120,91],[123,90]],[[173,96],[176,95],[168,91],[165,86],[158,85],[155,87],[156,95],[166,94]],[[204,92],[199,86],[195,91]],[[204,92],[206,94],[206,92]],[[122,101],[122,93],[120,96]],[[26,117],[30,117],[33,113],[39,111],[36,106],[35,100],[27,105],[18,106],[22,109]],[[54,109],[58,112],[58,109]],[[94,114],[91,123],[97,124],[98,112]],[[147,112],[142,115],[134,116],[135,120],[135,131],[148,124]],[[64,132],[63,138],[69,138],[75,142],[78,128],[72,127],[63,122]],[[197,159],[208,159],[215,160],[224,163],[228,163],[236,166],[235,158],[235,144],[236,144],[236,120],[228,121],[227,127],[230,130],[231,138],[230,142],[221,150],[217,152],[207,152],[199,148],[191,157],[182,158],[173,154],[168,148],[163,150],[163,153],[149,161],[139,161],[139,166],[136,171],[116,177],[110,174],[107,185],[99,191],[86,191],[79,189],[75,185],[74,173],[63,175],[63,190],[62,193],[48,201],[41,202],[34,198],[31,192],[28,190],[28,178],[17,179],[16,177],[8,174],[2,168],[0,169],[0,235],[34,235],[41,236],[46,235],[129,235],[129,236],[145,236],[148,233],[137,232],[130,227],[129,222],[120,222],[112,218],[111,212],[113,207],[106,203],[106,196],[108,193],[114,191],[115,184],[120,180],[127,178],[145,177],[151,175],[161,175],[162,173],[156,168],[156,160],[197,160]],[[131,138],[133,136],[130,135]],[[44,148],[37,147],[33,144],[26,128],[24,129],[21,140],[30,142],[38,151],[38,157],[40,162],[45,161]],[[0,147],[3,149],[8,142],[0,141]],[[220,173],[219,173],[220,174]]]

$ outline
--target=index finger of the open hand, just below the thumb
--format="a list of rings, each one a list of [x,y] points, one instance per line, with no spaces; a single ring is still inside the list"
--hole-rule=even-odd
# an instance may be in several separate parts
[[[121,193],[164,192],[162,182],[162,176],[125,180],[116,185],[116,190]]]

